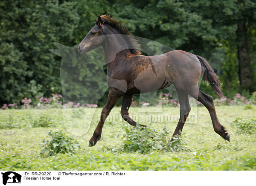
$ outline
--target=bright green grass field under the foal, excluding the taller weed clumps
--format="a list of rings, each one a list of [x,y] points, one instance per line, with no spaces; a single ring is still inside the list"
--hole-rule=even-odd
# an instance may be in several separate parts
[[[166,126],[171,138],[179,109],[164,108],[163,113],[152,113],[157,109],[145,107],[142,108],[144,112],[137,112],[137,108],[131,108],[130,114],[137,115],[135,120],[156,131],[163,131]],[[246,110],[244,106],[217,106],[216,110],[221,124],[230,133],[230,142],[213,131],[207,109],[198,107],[192,108],[192,117],[183,128],[181,150],[157,150],[144,154],[123,151],[123,135],[125,129],[131,129],[131,126],[120,119],[120,107],[111,111],[103,127],[102,139],[94,147],[88,147],[97,124],[97,119],[93,119],[93,126],[89,126],[93,108],[64,109],[63,113],[61,109],[0,110],[0,169],[256,170],[256,133],[245,131],[240,134],[233,123],[238,116],[255,119],[255,108]],[[157,115],[163,114],[172,115],[171,121],[156,119]],[[149,116],[153,117],[151,121]],[[39,144],[50,130],[62,130],[77,139],[81,146],[76,150],[77,154],[41,157],[43,147]]]

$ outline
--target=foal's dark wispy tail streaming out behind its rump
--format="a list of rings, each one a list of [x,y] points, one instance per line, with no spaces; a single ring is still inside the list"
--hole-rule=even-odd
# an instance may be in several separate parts
[[[202,65],[202,73],[204,81],[208,81],[209,84],[212,86],[212,90],[217,94],[218,96],[222,97],[223,94],[221,92],[221,86],[220,86],[220,80],[212,67],[209,65],[209,63],[206,61],[205,58],[196,55],[198,57],[201,65]]]

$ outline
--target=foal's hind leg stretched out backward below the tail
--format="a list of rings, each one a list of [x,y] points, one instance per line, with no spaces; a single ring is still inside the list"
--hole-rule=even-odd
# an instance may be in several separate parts
[[[212,96],[209,96],[206,93],[202,92],[198,87],[192,89],[192,91],[189,94],[193,96],[195,99],[197,99],[199,102],[201,102],[207,108],[212,119],[214,131],[227,141],[230,141],[230,134],[227,133],[227,130],[221,125],[221,123],[218,120]]]

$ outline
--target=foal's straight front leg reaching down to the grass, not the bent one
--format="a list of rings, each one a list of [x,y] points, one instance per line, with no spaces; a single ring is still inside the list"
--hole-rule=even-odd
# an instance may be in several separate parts
[[[89,147],[92,147],[96,145],[97,141],[99,141],[102,133],[102,127],[105,122],[105,119],[107,118],[108,114],[110,113],[111,109],[116,105],[117,100],[123,95],[124,93],[117,89],[111,87],[108,93],[108,99],[106,104],[104,105],[102,109],[102,113],[100,116],[99,123],[93,132],[93,136],[91,137],[89,141]]]

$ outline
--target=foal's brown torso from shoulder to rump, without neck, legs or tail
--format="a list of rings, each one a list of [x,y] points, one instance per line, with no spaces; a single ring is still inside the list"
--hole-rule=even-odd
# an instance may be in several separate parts
[[[181,50],[153,56],[128,54],[122,62],[119,61],[119,65],[122,70],[117,74],[127,80],[128,89],[135,86],[141,93],[173,83],[183,89],[198,84],[201,76],[201,64],[196,55]]]

